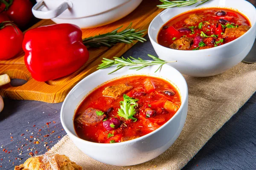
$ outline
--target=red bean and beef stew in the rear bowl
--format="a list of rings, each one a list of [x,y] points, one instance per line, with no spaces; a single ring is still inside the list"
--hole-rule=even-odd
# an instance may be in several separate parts
[[[223,45],[250,29],[249,20],[228,8],[196,9],[169,20],[157,42],[176,50],[200,50]]]

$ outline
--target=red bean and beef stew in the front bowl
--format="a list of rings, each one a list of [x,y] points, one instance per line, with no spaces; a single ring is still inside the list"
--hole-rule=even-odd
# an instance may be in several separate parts
[[[166,123],[181,105],[177,89],[164,79],[130,76],[108,82],[81,102],[74,116],[79,138],[125,142]]]

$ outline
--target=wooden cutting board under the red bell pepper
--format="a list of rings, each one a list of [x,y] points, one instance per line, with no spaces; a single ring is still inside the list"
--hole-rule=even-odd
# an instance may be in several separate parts
[[[148,29],[151,20],[163,10],[157,8],[159,3],[159,0],[143,0],[138,8],[121,20],[107,26],[83,29],[83,38],[107,33],[119,26],[126,28],[131,22],[133,23],[133,28],[139,28],[140,30]],[[51,20],[41,20],[29,29],[51,24],[54,24]],[[11,79],[24,79],[27,82],[18,87],[12,87],[10,84],[4,85],[0,89],[0,95],[18,100],[37,100],[48,103],[63,102],[67,93],[77,82],[97,70],[96,68],[101,63],[103,57],[108,59],[121,57],[134,44],[119,43],[112,48],[90,48],[90,57],[87,63],[78,71],[69,76],[47,82],[38,82],[31,77],[24,63],[24,52],[21,51],[13,59],[0,61],[0,75],[8,74]]]

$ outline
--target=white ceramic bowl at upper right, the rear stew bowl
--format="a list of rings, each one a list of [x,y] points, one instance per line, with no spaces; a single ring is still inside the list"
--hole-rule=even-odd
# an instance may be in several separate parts
[[[233,8],[244,14],[251,23],[251,28],[244,35],[214,48],[195,51],[182,51],[163,47],[157,43],[160,28],[171,18],[185,11],[195,9],[195,5],[169,8],[158,14],[150,23],[148,35],[159,58],[170,63],[182,74],[194,77],[207,77],[223,73],[241,62],[253,46],[256,37],[256,9],[246,0],[211,0],[196,8],[224,7]]]

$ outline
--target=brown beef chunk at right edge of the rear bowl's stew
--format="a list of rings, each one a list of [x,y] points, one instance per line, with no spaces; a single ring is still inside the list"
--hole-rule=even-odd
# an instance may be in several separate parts
[[[234,28],[226,28],[225,33],[222,35],[225,38],[236,39],[241,37],[250,29],[250,26],[239,26]]]

